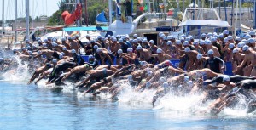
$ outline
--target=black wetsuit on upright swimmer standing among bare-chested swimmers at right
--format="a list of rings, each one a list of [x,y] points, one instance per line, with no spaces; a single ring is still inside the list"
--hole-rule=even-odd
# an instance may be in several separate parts
[[[207,68],[207,65],[210,66],[210,69],[216,73],[220,73],[220,66],[219,64],[223,64],[223,60],[218,58],[218,57],[214,57],[213,59],[207,59],[206,65],[204,66],[204,68]]]

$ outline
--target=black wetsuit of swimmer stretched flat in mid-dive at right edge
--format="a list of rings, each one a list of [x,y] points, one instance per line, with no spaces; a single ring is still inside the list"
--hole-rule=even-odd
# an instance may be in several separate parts
[[[202,83],[203,83],[203,85],[208,85],[208,84],[211,84],[211,83],[214,83],[214,82],[223,83],[223,78],[224,78],[224,75],[215,76],[215,77],[212,78],[212,80],[205,81],[205,82],[202,82]],[[241,82],[241,81],[247,80],[247,79],[253,80],[255,78],[254,77],[249,77],[249,76],[240,76],[240,75],[230,76],[230,82],[234,82],[234,83]]]

